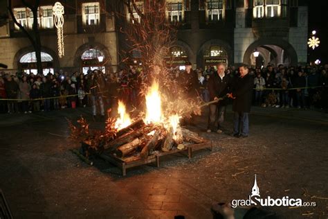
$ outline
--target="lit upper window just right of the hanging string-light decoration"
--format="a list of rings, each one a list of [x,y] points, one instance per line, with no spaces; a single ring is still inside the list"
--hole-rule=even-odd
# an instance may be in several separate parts
[[[83,3],[82,17],[84,25],[98,25],[100,21],[99,2]]]

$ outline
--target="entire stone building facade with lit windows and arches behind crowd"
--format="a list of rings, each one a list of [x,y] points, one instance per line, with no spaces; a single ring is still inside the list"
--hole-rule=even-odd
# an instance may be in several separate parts
[[[136,3],[142,9],[147,1]],[[62,2],[65,55],[59,58],[51,11],[55,1],[42,1],[37,20],[45,72],[67,69],[86,73],[100,67],[116,71],[125,44],[117,19],[140,22],[141,18],[134,11],[136,19],[131,20],[126,9],[125,16],[114,16],[113,2]],[[12,8],[17,21],[30,31],[30,10],[19,0],[12,0]],[[167,54],[167,66],[183,66],[186,60],[202,68],[218,63],[260,67],[307,62],[308,10],[304,0],[167,0],[165,15],[179,24],[177,40]],[[30,45],[12,19],[0,27],[0,63],[8,64],[9,71],[35,71],[35,54]],[[254,51],[259,53],[257,58]],[[100,56],[104,57],[102,62]],[[138,62],[138,53],[132,56]]]

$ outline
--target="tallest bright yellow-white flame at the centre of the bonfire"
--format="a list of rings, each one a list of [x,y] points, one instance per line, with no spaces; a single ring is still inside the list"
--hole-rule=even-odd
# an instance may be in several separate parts
[[[162,120],[161,96],[158,92],[158,82],[154,82],[146,95],[145,123],[160,123]]]

